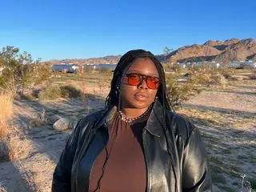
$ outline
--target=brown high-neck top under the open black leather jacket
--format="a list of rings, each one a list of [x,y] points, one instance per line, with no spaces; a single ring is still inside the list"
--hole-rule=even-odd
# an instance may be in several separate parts
[[[130,125],[123,122],[118,114],[114,115],[110,140],[91,170],[90,192],[146,191],[142,130],[147,118],[148,114]]]

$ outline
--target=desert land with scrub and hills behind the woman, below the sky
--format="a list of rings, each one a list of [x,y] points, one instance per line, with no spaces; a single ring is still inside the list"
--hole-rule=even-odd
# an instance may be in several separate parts
[[[189,118],[206,143],[214,191],[256,189],[255,47],[255,39],[232,38],[158,55],[175,112]],[[110,90],[112,69],[84,68],[84,62],[119,58],[38,62],[14,46],[3,48],[0,191],[50,191],[54,167],[76,122],[102,109]],[[235,61],[241,66],[232,66]],[[59,62],[77,62],[78,68],[52,71]]]

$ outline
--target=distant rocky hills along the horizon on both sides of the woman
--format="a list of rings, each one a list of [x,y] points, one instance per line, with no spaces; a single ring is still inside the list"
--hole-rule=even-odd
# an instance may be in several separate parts
[[[76,63],[76,64],[106,64],[118,63],[121,55],[110,55],[102,58],[67,58],[62,60],[50,60],[48,64]],[[256,40],[254,38],[238,39],[230,38],[225,41],[209,40],[203,45],[182,46],[170,54],[160,54],[157,58],[162,62],[230,62],[230,61],[256,61]]]

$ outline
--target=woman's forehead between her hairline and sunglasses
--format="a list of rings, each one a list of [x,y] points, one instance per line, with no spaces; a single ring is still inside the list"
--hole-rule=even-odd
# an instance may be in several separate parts
[[[131,72],[159,77],[158,69],[150,58],[137,58],[127,70],[127,73]]]

